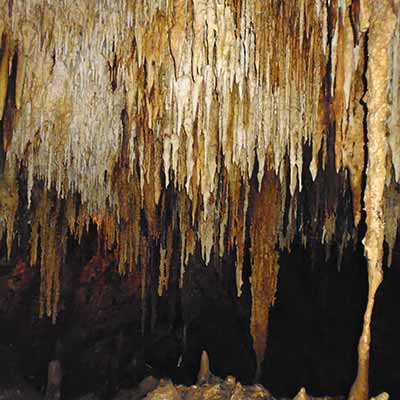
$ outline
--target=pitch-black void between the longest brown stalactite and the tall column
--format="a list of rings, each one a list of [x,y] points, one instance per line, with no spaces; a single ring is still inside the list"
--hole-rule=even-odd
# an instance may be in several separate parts
[[[348,393],[357,371],[357,344],[367,298],[363,249],[347,248],[314,266],[299,240],[280,258],[277,300],[271,308],[262,383],[278,396],[299,388],[315,395]]]

